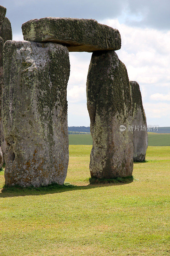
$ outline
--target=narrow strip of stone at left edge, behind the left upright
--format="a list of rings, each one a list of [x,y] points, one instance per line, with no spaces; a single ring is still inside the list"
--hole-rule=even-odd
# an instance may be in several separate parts
[[[6,153],[6,141],[4,139],[4,130],[3,130],[3,124],[2,124],[2,91],[4,86],[4,76],[3,76],[3,46],[4,46],[4,40],[2,37],[0,37],[0,147],[2,149],[3,158],[5,162],[5,153]]]

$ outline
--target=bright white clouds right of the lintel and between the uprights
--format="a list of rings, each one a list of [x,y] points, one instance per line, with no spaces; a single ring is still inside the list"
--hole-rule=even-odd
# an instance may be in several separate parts
[[[166,126],[170,105],[161,101],[169,95],[163,95],[162,90],[165,94],[170,84],[170,31],[133,28],[120,24],[118,20],[100,22],[119,29],[121,33],[122,47],[116,53],[127,67],[129,80],[137,81],[140,85],[147,122]],[[73,115],[77,116],[81,125],[89,125],[86,104],[81,102],[86,101],[85,88],[90,58],[91,54],[88,53],[70,53],[68,113],[71,120]],[[155,94],[157,96],[153,96]],[[156,98],[160,101],[158,104],[149,102]]]

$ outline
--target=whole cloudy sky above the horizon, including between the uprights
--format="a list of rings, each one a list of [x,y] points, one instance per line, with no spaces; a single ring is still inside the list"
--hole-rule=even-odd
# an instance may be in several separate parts
[[[95,19],[117,28],[116,51],[139,83],[148,125],[170,126],[170,0],[1,0],[11,21],[13,40],[23,40],[21,25],[42,17]],[[86,77],[91,53],[70,53],[68,125],[89,126]]]

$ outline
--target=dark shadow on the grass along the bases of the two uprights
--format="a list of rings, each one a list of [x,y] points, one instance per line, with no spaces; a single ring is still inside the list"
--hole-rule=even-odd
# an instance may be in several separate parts
[[[13,196],[30,196],[30,195],[45,195],[62,193],[65,191],[81,190],[81,189],[91,189],[97,187],[106,186],[120,186],[124,184],[131,183],[133,181],[133,176],[126,178],[116,178],[116,179],[94,179],[90,178],[85,181],[89,181],[90,184],[84,186],[71,185],[70,183],[64,183],[63,185],[52,184],[48,186],[43,186],[40,188],[22,188],[19,186],[7,187],[4,186],[0,193],[0,198],[13,197]]]

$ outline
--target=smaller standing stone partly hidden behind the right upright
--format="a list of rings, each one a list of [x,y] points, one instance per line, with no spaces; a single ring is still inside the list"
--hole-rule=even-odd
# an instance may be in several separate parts
[[[132,98],[133,161],[141,162],[145,160],[148,147],[146,116],[139,84],[136,81],[130,81],[130,91]]]

